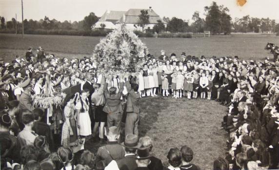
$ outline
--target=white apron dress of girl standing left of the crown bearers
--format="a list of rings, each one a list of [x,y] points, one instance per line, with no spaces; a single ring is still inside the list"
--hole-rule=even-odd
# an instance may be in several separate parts
[[[83,103],[84,112],[80,112],[80,114],[79,114],[79,122],[78,122],[78,124],[80,125],[79,135],[88,136],[88,135],[91,135],[91,121],[90,121],[90,116],[88,113],[89,103],[87,100],[86,101],[82,100],[82,103]],[[81,102],[79,101],[76,104],[76,109],[81,110],[81,108],[82,108],[82,105],[81,105]]]

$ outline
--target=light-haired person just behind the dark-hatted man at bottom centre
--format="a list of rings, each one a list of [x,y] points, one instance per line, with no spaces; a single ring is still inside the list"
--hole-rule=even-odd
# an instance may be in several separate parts
[[[139,142],[142,146],[147,148],[149,152],[152,151],[153,141],[149,136],[141,137]],[[162,170],[163,169],[162,162],[157,157],[151,155],[150,161],[151,161],[150,164],[148,164],[148,169],[149,170]]]

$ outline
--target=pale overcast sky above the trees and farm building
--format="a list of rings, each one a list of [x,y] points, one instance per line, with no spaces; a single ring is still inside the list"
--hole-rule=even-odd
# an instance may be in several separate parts
[[[242,7],[237,0],[215,0],[218,5],[229,8],[234,19],[246,15],[258,18],[276,19],[279,22],[279,0],[247,0]],[[94,12],[101,17],[106,10],[127,11],[130,8],[148,9],[149,6],[163,16],[192,19],[195,11],[203,18],[204,6],[212,0],[23,0],[24,19],[49,19],[79,21]],[[21,0],[0,0],[0,16],[11,20],[18,15],[21,20]]]

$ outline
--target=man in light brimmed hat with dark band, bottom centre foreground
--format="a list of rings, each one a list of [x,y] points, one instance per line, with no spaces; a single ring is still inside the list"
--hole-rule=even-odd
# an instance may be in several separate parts
[[[125,141],[120,144],[125,148],[124,158],[118,161],[111,161],[105,170],[135,170],[138,167],[136,152],[141,146],[138,141],[139,137],[137,135],[126,135]]]

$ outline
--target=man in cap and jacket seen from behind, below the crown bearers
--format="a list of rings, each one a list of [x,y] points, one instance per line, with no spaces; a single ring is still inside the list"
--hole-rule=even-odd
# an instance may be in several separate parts
[[[118,144],[119,134],[116,126],[108,129],[107,139],[108,143],[98,149],[96,155],[96,162],[104,160],[105,165],[108,165],[112,160],[120,160],[124,158],[125,151],[121,145]]]

